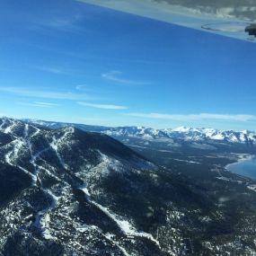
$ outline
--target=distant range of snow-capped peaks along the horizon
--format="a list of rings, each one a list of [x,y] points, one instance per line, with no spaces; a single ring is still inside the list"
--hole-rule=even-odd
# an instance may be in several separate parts
[[[184,141],[216,141],[225,143],[240,143],[240,144],[255,144],[256,133],[248,130],[234,131],[234,130],[218,130],[214,128],[167,128],[167,129],[155,129],[144,127],[97,127],[88,126],[83,124],[69,124],[69,123],[57,123],[42,121],[36,119],[27,119],[31,123],[40,125],[47,128],[61,128],[66,126],[72,126],[75,128],[81,128],[86,131],[97,131],[109,135],[110,137],[137,137],[146,140],[154,139],[181,139]]]

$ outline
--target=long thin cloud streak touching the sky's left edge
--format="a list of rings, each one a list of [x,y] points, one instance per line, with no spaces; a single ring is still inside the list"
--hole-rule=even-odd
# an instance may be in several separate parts
[[[91,99],[87,94],[84,93],[62,93],[53,92],[48,90],[32,90],[28,88],[21,87],[7,87],[0,86],[0,92],[13,93],[20,96],[31,97],[31,98],[41,98],[41,99],[56,99],[56,100],[70,100],[70,101],[81,101]]]

